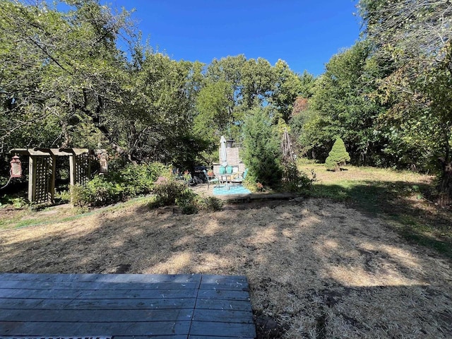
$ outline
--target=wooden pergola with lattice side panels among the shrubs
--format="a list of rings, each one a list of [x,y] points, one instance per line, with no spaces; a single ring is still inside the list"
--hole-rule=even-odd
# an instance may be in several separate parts
[[[70,183],[85,184],[90,179],[88,148],[13,148],[10,153],[28,155],[28,200],[54,203],[56,157],[69,157]]]

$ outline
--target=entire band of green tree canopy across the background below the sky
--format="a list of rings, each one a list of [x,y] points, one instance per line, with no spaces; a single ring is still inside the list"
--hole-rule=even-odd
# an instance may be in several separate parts
[[[0,0],[1,169],[23,147],[208,164],[221,135],[249,140],[246,124],[270,121],[271,133],[290,126],[300,155],[324,161],[342,138],[352,163],[440,171],[451,196],[452,6],[358,9],[361,39],[315,78],[243,54],[175,61],[143,43],[131,13],[98,0]]]

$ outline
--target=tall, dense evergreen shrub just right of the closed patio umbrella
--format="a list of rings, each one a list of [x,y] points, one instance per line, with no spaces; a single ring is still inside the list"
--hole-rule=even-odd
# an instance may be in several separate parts
[[[280,167],[280,138],[268,113],[268,109],[257,107],[246,115],[242,160],[252,179],[266,186],[275,186],[283,176]]]

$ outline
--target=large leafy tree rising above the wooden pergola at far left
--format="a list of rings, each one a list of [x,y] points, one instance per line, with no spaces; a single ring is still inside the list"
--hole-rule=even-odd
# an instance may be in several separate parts
[[[114,15],[97,1],[68,4],[62,13],[45,2],[0,0],[0,88],[11,102],[1,107],[6,148],[102,142],[91,127],[104,133],[100,116],[120,100],[124,58],[116,40],[129,13]]]

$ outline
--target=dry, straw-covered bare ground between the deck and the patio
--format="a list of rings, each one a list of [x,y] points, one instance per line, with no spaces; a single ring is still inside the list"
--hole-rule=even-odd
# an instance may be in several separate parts
[[[340,203],[269,204],[138,205],[8,230],[0,271],[246,275],[260,338],[452,337],[450,261]]]

